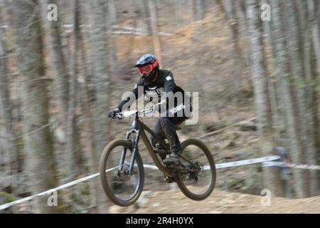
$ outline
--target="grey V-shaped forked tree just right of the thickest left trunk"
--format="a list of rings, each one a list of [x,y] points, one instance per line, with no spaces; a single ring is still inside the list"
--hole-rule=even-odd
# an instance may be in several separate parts
[[[66,44],[66,48],[63,45],[62,37],[62,14],[58,14],[58,21],[49,21],[47,19],[48,5],[58,4],[58,1],[42,1],[42,22],[44,28],[46,28],[48,38],[48,53],[50,56],[50,66],[53,69],[54,86],[58,93],[54,93],[53,96],[58,100],[59,113],[55,118],[58,120],[60,129],[65,132],[64,145],[55,145],[55,153],[57,155],[62,154],[57,161],[59,171],[62,176],[67,175],[68,181],[75,180],[78,174],[77,160],[78,154],[78,131],[75,128],[75,101],[76,101],[76,85],[77,85],[77,58],[78,58],[78,4],[72,2],[72,11],[70,14],[73,26],[71,28],[71,34],[69,43]],[[58,8],[60,9],[60,8]],[[58,12],[60,12],[58,10]],[[64,49],[70,50],[68,52]],[[69,58],[68,58],[69,57]],[[67,61],[69,59],[70,61]],[[65,168],[64,168],[65,165]],[[65,200],[68,203],[73,204],[73,190],[70,190],[70,194],[65,195]]]

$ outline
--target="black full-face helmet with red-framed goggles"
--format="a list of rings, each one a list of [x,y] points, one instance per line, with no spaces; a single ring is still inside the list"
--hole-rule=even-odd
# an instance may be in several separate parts
[[[159,71],[159,61],[156,56],[145,54],[141,56],[135,67],[139,68],[139,73],[144,81],[153,81]]]

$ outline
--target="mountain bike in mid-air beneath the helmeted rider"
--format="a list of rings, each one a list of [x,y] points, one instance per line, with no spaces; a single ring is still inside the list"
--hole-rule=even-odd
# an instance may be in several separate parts
[[[139,199],[144,187],[144,165],[139,154],[142,138],[156,167],[164,173],[167,182],[176,182],[186,197],[206,199],[215,187],[215,161],[208,147],[196,139],[181,142],[181,163],[164,165],[162,160],[170,153],[166,139],[156,138],[155,133],[140,119],[140,115],[154,113],[154,108],[117,113],[114,119],[133,117],[132,127],[124,140],[112,140],[100,158],[100,180],[105,194],[114,204],[127,207]],[[178,127],[177,127],[178,128]],[[155,148],[146,132],[156,138],[160,148]]]

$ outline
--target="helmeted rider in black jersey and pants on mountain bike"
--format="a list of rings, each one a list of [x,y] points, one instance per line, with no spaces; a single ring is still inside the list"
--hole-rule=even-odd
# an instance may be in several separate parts
[[[157,138],[166,138],[170,145],[170,154],[163,160],[165,165],[179,164],[181,154],[181,144],[176,134],[176,126],[183,123],[189,116],[186,115],[186,108],[192,111],[190,98],[184,94],[182,88],[176,86],[174,76],[169,70],[159,69],[159,61],[156,56],[152,54],[145,54],[139,58],[135,67],[138,68],[141,78],[134,85],[132,93],[134,93],[137,100],[138,88],[143,87],[144,95],[153,103],[156,102],[156,109],[161,113],[161,117],[157,120],[154,126],[154,133]],[[174,103],[169,101],[174,98],[174,95],[181,93],[183,96],[182,103],[174,100]],[[167,96],[164,96],[166,94]],[[133,103],[132,100],[122,100],[117,108],[110,110],[109,117],[114,116],[122,111],[124,105],[129,107]],[[151,139],[152,145],[159,149],[156,145],[156,138]]]

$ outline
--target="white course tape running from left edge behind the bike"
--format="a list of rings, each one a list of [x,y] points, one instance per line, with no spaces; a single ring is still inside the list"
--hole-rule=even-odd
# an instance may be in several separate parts
[[[237,162],[225,162],[225,163],[220,163],[220,164],[216,164],[215,167],[216,169],[222,169],[222,168],[228,168],[228,167],[237,167],[237,166],[240,166],[240,165],[250,165],[250,164],[255,164],[255,163],[261,163],[261,162],[270,162],[272,160],[278,160],[279,159],[279,156],[268,156],[268,157],[259,157],[259,158],[255,158],[255,159],[250,159],[250,160],[241,160],[241,161],[237,161]],[[117,166],[119,167],[119,166]],[[113,167],[112,169],[110,170],[106,170],[106,172],[110,172],[111,170],[114,170],[114,169],[117,169],[117,167]],[[149,168],[151,170],[158,170],[158,167],[154,166],[154,165],[144,165],[144,167],[146,168]],[[208,166],[204,167],[205,170],[208,170]],[[21,204],[22,202],[26,202],[28,200],[31,200],[35,197],[40,197],[40,196],[43,196],[43,195],[48,195],[52,192],[55,192],[55,191],[58,191],[58,190],[63,190],[67,187],[71,187],[73,185],[77,185],[78,183],[80,182],[85,182],[87,180],[90,180],[94,177],[97,177],[99,176],[100,173],[95,173],[93,175],[90,175],[90,176],[87,176],[87,177],[82,177],[78,180],[74,180],[73,182],[68,182],[66,183],[65,185],[60,185],[59,187],[55,187],[51,190],[47,190],[46,192],[41,192],[41,193],[38,193],[36,195],[31,195],[30,197],[25,197],[25,198],[22,198],[22,199],[18,199],[14,202],[9,202],[8,204],[3,204],[3,205],[0,205],[0,210],[1,209],[6,209],[8,207],[12,207],[16,204]]]

